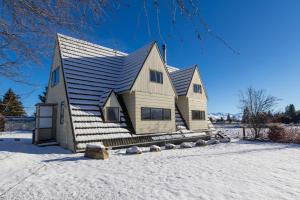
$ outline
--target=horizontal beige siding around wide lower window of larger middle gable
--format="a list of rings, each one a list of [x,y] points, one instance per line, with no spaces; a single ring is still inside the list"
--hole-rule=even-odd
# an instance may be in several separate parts
[[[170,95],[136,92],[135,93],[135,131],[137,134],[174,132],[175,127],[175,101]],[[171,109],[171,120],[141,120],[141,108],[167,108]]]

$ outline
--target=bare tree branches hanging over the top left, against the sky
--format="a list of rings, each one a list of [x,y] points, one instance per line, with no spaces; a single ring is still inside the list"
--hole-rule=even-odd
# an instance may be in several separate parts
[[[80,36],[90,27],[101,26],[114,12],[133,5],[143,11],[149,34],[150,18],[155,16],[157,32],[160,37],[166,35],[160,29],[160,13],[168,12],[172,26],[177,18],[189,20],[199,40],[208,34],[238,53],[208,26],[198,0],[0,0],[0,76],[27,83],[20,76],[24,67],[41,65],[52,52],[56,32]]]

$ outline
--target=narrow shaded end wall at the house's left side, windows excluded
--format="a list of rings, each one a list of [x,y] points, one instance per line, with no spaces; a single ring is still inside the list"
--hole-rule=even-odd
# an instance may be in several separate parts
[[[51,87],[51,74],[58,66],[59,70],[59,83],[54,87]],[[60,104],[64,102],[64,123],[60,124]],[[70,111],[68,107],[68,101],[66,96],[66,89],[63,77],[63,70],[61,66],[60,55],[58,51],[58,45],[55,47],[50,78],[48,81],[48,92],[46,103],[57,103],[57,116],[56,116],[56,140],[64,148],[74,151],[74,138],[70,119]]]

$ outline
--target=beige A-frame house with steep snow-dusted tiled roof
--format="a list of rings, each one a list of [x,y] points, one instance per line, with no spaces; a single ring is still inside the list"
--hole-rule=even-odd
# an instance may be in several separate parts
[[[128,54],[58,34],[47,101],[37,107],[36,143],[55,140],[80,151],[88,143],[207,137],[198,66],[170,67],[165,57],[156,42]]]

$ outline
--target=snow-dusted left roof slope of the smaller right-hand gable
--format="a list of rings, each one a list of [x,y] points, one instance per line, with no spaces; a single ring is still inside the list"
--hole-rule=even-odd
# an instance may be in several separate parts
[[[170,73],[178,96],[186,95],[196,68],[197,66],[194,65],[192,67],[176,70]]]

